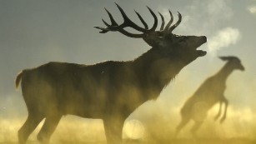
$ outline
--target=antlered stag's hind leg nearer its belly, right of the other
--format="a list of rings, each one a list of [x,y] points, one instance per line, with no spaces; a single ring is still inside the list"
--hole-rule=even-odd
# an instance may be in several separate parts
[[[58,126],[58,122],[60,121],[62,115],[51,115],[46,117],[45,122],[43,123],[43,127],[38,133],[38,141],[43,144],[48,144],[50,141],[50,137]]]

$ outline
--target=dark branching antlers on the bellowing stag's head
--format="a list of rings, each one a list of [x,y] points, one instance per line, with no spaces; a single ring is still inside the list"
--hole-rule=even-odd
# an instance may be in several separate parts
[[[122,7],[120,7],[118,5],[118,3],[115,2],[115,4],[117,5],[119,11],[122,14],[123,17],[123,23],[118,25],[118,23],[113,19],[113,16],[110,12],[108,12],[108,9],[105,8],[106,12],[108,13],[108,17],[110,18],[111,24],[108,24],[108,22],[103,20],[103,23],[107,26],[107,27],[95,27],[98,28],[101,31],[101,33],[106,33],[109,31],[115,32],[121,32],[123,33],[123,35],[128,36],[128,37],[134,37],[134,38],[143,38],[146,42],[147,39],[150,39],[150,41],[153,40],[153,37],[163,37],[165,35],[168,35],[170,33],[173,32],[173,29],[175,27],[178,27],[179,23],[181,22],[182,16],[181,14],[178,12],[178,22],[176,22],[172,27],[171,24],[173,22],[173,14],[170,10],[170,17],[171,19],[169,20],[168,24],[164,27],[165,22],[164,22],[164,18],[163,15],[159,13],[161,19],[162,19],[162,24],[160,27],[160,31],[156,31],[156,28],[158,27],[158,17],[156,16],[156,14],[152,11],[151,8],[148,7],[149,12],[151,13],[151,15],[153,16],[153,27],[151,27],[150,29],[148,29],[148,24],[143,20],[143,17],[141,17],[141,15],[136,12],[134,10],[134,12],[137,14],[139,20],[143,23],[144,27],[139,27],[137,24],[135,24],[133,21],[131,21],[128,16],[125,14],[125,12],[123,11]],[[143,32],[143,33],[131,33],[131,32],[127,32],[126,30],[124,30],[125,27],[132,27],[133,29],[137,30],[138,32]],[[148,38],[149,37],[149,38]],[[152,42],[148,43],[149,45],[152,45]]]

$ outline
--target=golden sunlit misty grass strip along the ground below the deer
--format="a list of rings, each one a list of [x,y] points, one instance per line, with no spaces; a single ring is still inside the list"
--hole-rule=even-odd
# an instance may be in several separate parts
[[[0,144],[18,144],[17,132],[23,124],[23,119],[1,120],[0,121]],[[189,134],[189,125],[175,139],[173,138],[173,126],[165,126],[148,122],[151,126],[140,124],[139,122],[128,121],[123,128],[123,144],[255,144],[253,134],[256,131],[248,125],[250,130],[246,131],[242,123],[241,126],[226,124],[229,129],[224,129],[225,125],[217,125],[206,122],[198,132],[198,138],[193,138]],[[135,127],[134,127],[135,126]],[[218,126],[218,127],[216,127]],[[220,127],[222,126],[222,127]],[[36,139],[37,133],[42,127],[42,123],[29,137],[27,144],[39,144]],[[131,128],[132,127],[132,128]],[[156,128],[157,127],[157,128]],[[231,128],[230,128],[231,127]],[[131,134],[132,132],[132,134]],[[255,133],[254,133],[255,132]],[[137,139],[137,140],[134,140]],[[101,120],[89,120],[78,117],[67,117],[60,122],[56,132],[51,139],[51,144],[106,144],[103,123]]]

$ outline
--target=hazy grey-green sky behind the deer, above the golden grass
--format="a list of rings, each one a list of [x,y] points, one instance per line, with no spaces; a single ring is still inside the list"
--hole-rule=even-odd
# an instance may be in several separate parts
[[[24,68],[50,61],[128,61],[148,51],[150,47],[142,39],[118,32],[101,34],[93,28],[104,26],[102,18],[109,22],[104,7],[119,23],[123,22],[114,2],[141,24],[133,12],[136,9],[149,27],[153,17],[145,6],[162,12],[166,21],[168,9],[174,21],[178,11],[183,22],[173,33],[208,37],[208,43],[202,46],[208,54],[183,68],[154,105],[163,109],[181,107],[205,78],[223,67],[224,62],[217,56],[234,55],[240,57],[246,71],[232,73],[225,95],[232,107],[256,110],[256,0],[1,0],[0,117],[11,109],[26,112],[21,92],[14,87],[15,77]]]

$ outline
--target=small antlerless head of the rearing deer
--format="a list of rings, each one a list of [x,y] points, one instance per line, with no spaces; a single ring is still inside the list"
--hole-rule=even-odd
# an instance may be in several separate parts
[[[244,67],[238,57],[227,56],[227,57],[219,57],[223,61],[227,61],[228,65],[233,69],[244,71]]]

